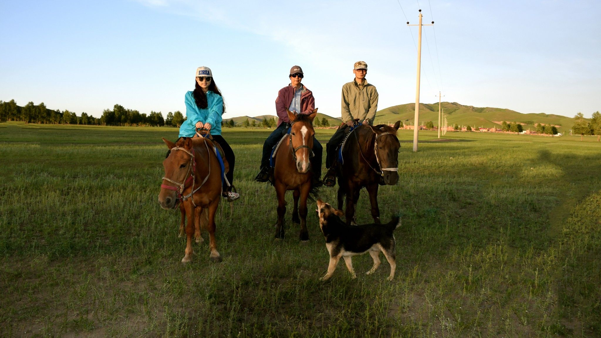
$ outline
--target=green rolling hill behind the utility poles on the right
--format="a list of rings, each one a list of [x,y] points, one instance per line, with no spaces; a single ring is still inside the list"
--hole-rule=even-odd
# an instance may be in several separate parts
[[[457,123],[466,126],[478,126],[484,128],[499,127],[495,123],[501,121],[522,122],[525,129],[535,128],[534,124],[554,124],[560,132],[567,132],[572,128],[574,118],[555,114],[522,114],[511,109],[464,106],[457,102],[442,102],[441,108],[447,115],[448,125]],[[404,124],[413,123],[415,114],[415,103],[391,106],[376,113],[376,123],[394,123],[401,120]],[[589,119],[585,119],[589,120]],[[438,102],[427,104],[419,103],[419,123],[422,121],[433,121],[438,124]],[[442,123],[442,122],[441,122]]]

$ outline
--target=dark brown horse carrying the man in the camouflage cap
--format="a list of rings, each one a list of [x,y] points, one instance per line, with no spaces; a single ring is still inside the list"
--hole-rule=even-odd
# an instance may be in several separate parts
[[[370,195],[371,217],[380,223],[380,208],[377,205],[377,190],[380,182],[395,185],[398,181],[398,149],[400,143],[397,130],[386,124],[358,126],[344,144],[344,163],[338,165],[338,209],[342,210],[346,196],[346,223],[355,223],[355,205],[361,188]],[[346,128],[346,126],[344,126]]]

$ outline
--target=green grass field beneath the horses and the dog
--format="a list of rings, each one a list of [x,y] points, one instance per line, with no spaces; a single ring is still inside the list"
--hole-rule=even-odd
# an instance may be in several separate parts
[[[368,255],[328,266],[255,183],[269,130],[225,129],[242,198],[180,260],[179,211],[157,203],[175,128],[0,124],[0,337],[599,337],[601,144],[596,138],[400,131],[397,274]],[[319,130],[323,144],[333,131]],[[335,189],[320,197],[333,203]],[[291,194],[288,196],[291,201]],[[371,222],[362,192],[358,222]],[[204,235],[204,234],[203,234]],[[382,257],[383,259],[383,257]]]

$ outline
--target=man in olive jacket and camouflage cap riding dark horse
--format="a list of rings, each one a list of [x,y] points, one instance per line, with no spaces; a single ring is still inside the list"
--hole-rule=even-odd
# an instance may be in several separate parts
[[[355,79],[342,86],[342,124],[326,144],[326,167],[329,168],[323,177],[323,184],[336,184],[335,167],[337,164],[336,150],[344,139],[347,126],[352,127],[355,120],[362,124],[372,124],[376,117],[378,94],[373,84],[367,83],[367,63],[357,61],[353,67]]]

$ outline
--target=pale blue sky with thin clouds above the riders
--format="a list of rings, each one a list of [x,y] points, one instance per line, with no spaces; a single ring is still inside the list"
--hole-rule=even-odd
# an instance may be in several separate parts
[[[423,28],[420,102],[442,91],[524,113],[601,109],[601,2],[592,0],[2,0],[0,100],[166,115],[185,111],[196,67],[208,66],[224,117],[275,115],[297,64],[320,112],[340,117],[341,87],[362,60],[380,109],[415,102],[417,29],[405,22],[417,23],[418,8],[435,21]]]

